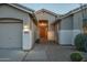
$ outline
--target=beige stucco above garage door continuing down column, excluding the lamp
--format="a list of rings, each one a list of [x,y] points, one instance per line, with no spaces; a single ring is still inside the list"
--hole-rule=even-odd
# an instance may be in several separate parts
[[[30,25],[31,25],[30,22],[32,22],[32,21],[31,21],[31,18],[29,17],[29,13],[26,13],[26,12],[18,10],[11,6],[8,6],[8,4],[2,4],[2,6],[0,6],[0,18],[20,19],[23,21],[23,25],[28,24],[29,30],[32,32],[32,30],[30,29]],[[30,50],[32,47],[33,41],[30,42],[29,39],[32,37],[32,35],[31,36],[30,35],[31,34],[24,35],[24,32],[23,32],[23,40],[24,40],[22,42],[23,50]]]

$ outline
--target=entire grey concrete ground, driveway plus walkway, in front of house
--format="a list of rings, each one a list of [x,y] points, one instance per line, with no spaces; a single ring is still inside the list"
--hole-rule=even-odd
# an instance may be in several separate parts
[[[73,46],[56,44],[36,44],[30,52],[21,50],[0,50],[2,62],[69,62],[70,53],[76,52]],[[87,54],[85,54],[87,56]]]

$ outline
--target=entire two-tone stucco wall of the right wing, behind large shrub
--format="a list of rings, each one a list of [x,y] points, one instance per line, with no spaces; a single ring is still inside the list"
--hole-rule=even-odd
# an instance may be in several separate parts
[[[73,15],[68,15],[62,19],[59,43],[74,45],[74,40],[76,35],[81,32],[83,32],[83,12],[78,11]]]

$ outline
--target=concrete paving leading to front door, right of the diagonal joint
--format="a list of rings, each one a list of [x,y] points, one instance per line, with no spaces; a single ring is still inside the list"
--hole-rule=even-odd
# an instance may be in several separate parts
[[[61,46],[57,44],[36,44],[26,55],[24,61],[35,62],[68,62],[69,55],[75,52],[73,46]]]

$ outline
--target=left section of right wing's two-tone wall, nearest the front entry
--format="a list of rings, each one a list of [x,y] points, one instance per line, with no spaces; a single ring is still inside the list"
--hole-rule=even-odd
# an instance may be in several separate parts
[[[73,15],[63,18],[61,21],[61,30],[59,30],[59,44],[68,44],[72,45],[73,40]]]

